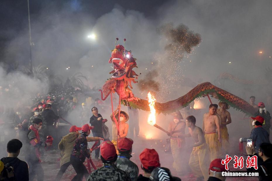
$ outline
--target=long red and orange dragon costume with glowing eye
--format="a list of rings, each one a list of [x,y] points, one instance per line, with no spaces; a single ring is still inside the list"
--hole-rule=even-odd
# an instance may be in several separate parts
[[[116,38],[116,40],[118,40],[118,38]],[[136,59],[133,58],[131,51],[125,50],[124,46],[115,46],[111,53],[111,58],[109,59],[109,63],[113,64],[112,68],[114,70],[110,72],[112,76],[104,84],[103,91],[99,90],[101,92],[101,99],[106,100],[110,93],[116,92],[119,95],[119,100],[122,100],[124,105],[129,105],[144,111],[150,111],[148,101],[134,97],[130,89],[132,88],[131,82],[137,83],[135,79],[137,79],[138,75],[132,70],[134,67],[137,67],[135,60]],[[105,94],[104,98],[103,93]],[[196,98],[209,95],[226,102],[231,107],[236,108],[245,114],[253,116],[256,112],[256,110],[245,100],[218,88],[209,82],[197,85],[187,94],[175,100],[165,103],[156,102],[155,109],[158,113],[169,114],[186,107]]]

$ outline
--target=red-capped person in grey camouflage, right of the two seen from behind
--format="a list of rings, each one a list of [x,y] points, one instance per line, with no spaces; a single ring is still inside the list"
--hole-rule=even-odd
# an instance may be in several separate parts
[[[132,153],[132,144],[133,140],[130,138],[121,138],[118,142],[118,151],[119,155],[116,160],[117,168],[125,171],[129,174],[129,177],[132,181],[137,180],[139,175],[138,166],[130,161]]]

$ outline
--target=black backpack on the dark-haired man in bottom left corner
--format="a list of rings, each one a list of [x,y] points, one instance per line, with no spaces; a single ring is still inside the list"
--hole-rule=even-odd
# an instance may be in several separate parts
[[[0,173],[0,181],[14,181],[14,166],[19,163],[19,159],[6,163],[4,169]]]

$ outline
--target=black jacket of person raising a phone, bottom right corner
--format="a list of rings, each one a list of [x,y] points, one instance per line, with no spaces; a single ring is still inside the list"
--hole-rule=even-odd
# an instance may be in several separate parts
[[[257,154],[254,154],[257,155]],[[250,157],[252,155],[249,155]],[[258,156],[258,158],[260,158]],[[266,161],[263,162],[259,162],[259,160],[257,159],[257,165],[258,165],[258,169],[255,170],[254,168],[247,168],[247,172],[259,172],[259,180],[262,181],[271,181],[272,180],[272,158],[267,159]]]

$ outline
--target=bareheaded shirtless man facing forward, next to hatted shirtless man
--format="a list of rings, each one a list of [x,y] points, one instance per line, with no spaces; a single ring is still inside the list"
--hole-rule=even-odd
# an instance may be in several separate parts
[[[210,149],[211,161],[217,159],[220,156],[221,151],[220,122],[219,117],[216,115],[216,107],[218,107],[216,104],[211,104],[209,106],[209,112],[205,113],[203,116],[202,126],[206,143]]]

